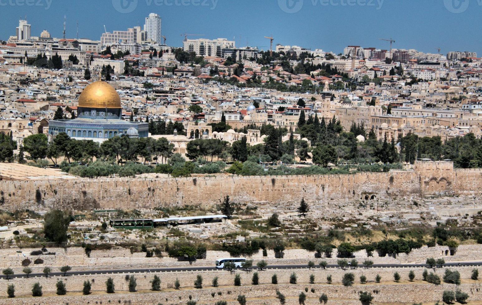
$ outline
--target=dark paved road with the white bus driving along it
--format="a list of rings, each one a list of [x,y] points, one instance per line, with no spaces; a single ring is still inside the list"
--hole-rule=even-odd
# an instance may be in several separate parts
[[[482,266],[482,261],[479,262],[466,262],[466,263],[446,263],[444,267],[464,267],[464,266]],[[375,264],[370,268],[388,268],[388,267],[428,267],[427,264]],[[60,267],[51,267],[54,269]],[[327,269],[339,268],[338,265],[332,264],[328,265]],[[364,268],[363,266],[357,267],[358,269]],[[252,267],[255,270],[256,267]],[[269,265],[265,269],[308,269],[308,265]],[[320,266],[313,267],[313,269],[322,269]],[[119,274],[119,273],[144,273],[144,272],[174,272],[174,271],[218,271],[218,272],[228,272],[225,269],[217,269],[215,267],[172,267],[172,268],[146,268],[146,269],[110,269],[110,270],[91,270],[91,271],[68,271],[67,276],[74,275],[92,275],[92,274]],[[63,276],[63,272],[52,272],[49,273],[50,276]],[[43,273],[31,273],[29,277],[42,277],[45,276]],[[25,273],[18,273],[10,276],[10,278],[26,278]],[[5,276],[0,276],[0,279],[4,279]]]

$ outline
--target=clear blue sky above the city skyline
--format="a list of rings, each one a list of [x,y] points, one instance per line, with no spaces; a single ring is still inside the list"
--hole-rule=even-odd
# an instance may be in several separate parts
[[[120,4],[133,11],[120,13]],[[79,21],[79,38],[100,39],[104,25],[107,31],[143,26],[148,13],[158,13],[174,46],[182,46],[185,32],[263,49],[269,46],[263,37],[273,35],[275,44],[337,53],[347,45],[388,49],[378,38],[393,38],[394,48],[482,56],[482,0],[0,0],[0,12],[0,39],[15,35],[25,15],[32,36],[46,29],[62,37],[66,15],[68,38],[76,37]]]

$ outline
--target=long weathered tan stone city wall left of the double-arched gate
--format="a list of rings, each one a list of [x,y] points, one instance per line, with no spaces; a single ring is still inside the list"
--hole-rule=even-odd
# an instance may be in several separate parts
[[[378,196],[420,193],[415,172],[360,173],[313,176],[216,176],[197,178],[100,178],[72,180],[1,181],[6,210],[21,208],[154,208],[163,205],[234,201],[314,203],[351,200],[362,192]],[[37,190],[41,194],[38,202]]]

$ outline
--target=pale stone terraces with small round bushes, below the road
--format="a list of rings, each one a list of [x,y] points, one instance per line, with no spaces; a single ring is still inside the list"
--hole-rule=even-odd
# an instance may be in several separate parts
[[[285,296],[294,297],[293,300],[288,299],[288,304],[297,304],[297,295],[304,291],[304,288],[308,288],[309,299],[307,304],[319,304],[318,297],[321,293],[326,293],[331,299],[329,304],[360,304],[358,301],[359,291],[369,291],[378,290],[375,293],[375,303],[379,302],[434,302],[442,297],[442,292],[444,290],[455,290],[459,288],[460,290],[469,293],[470,300],[482,300],[481,282],[475,280],[469,280],[470,274],[473,267],[459,267],[457,270],[460,272],[461,278],[463,279],[462,285],[455,286],[453,284],[443,283],[442,285],[435,286],[426,282],[420,281],[422,278],[422,272],[424,268],[370,268],[363,269],[357,268],[354,270],[341,270],[335,268],[329,268],[326,270],[322,269],[290,269],[290,270],[266,270],[258,271],[259,282],[262,285],[252,285],[251,279],[253,273],[247,273],[244,271],[236,271],[230,273],[226,270],[217,271],[182,271],[182,272],[163,272],[163,273],[136,273],[134,276],[137,280],[137,290],[147,293],[123,293],[122,291],[128,290],[128,281],[125,280],[125,274],[116,275],[86,275],[86,276],[72,276],[72,277],[38,277],[38,278],[22,278],[22,279],[12,279],[12,280],[2,280],[0,281],[0,295],[5,296],[7,285],[15,285],[15,294],[17,296],[29,295],[31,294],[32,285],[39,282],[42,286],[42,291],[44,294],[51,294],[56,291],[55,284],[57,280],[63,280],[66,283],[67,292],[78,292],[81,291],[83,287],[83,282],[85,280],[94,280],[92,282],[92,292],[105,292],[106,285],[105,282],[107,278],[111,277],[115,284],[115,294],[103,294],[98,295],[97,293],[91,296],[80,296],[75,297],[55,297],[55,298],[21,298],[21,299],[0,299],[2,301],[8,301],[8,304],[87,304],[86,301],[104,301],[103,303],[108,304],[112,301],[114,304],[118,303],[117,300],[121,300],[122,304],[125,304],[123,300],[131,300],[132,304],[186,304],[188,296],[191,295],[193,300],[199,302],[199,304],[213,304],[219,300],[229,300],[235,301],[238,294],[244,294],[247,298],[267,298],[268,304],[279,304],[279,301],[274,299],[276,295],[276,290],[279,289]],[[408,283],[408,273],[410,270],[415,272],[415,282]],[[295,272],[297,276],[297,285],[288,284],[291,273]],[[340,285],[343,275],[347,272],[354,273],[355,284],[353,287],[344,287]],[[393,274],[398,272],[402,277],[402,283],[395,283],[393,281]],[[437,269],[436,273],[442,278],[444,269]],[[234,277],[235,274],[241,275],[241,287],[234,287]],[[278,277],[278,285],[271,285],[271,277],[276,274]],[[308,284],[310,275],[315,276],[315,284]],[[375,276],[379,274],[382,277],[382,282],[376,284],[374,282]],[[161,289],[162,292],[149,293],[151,288],[150,280],[153,279],[154,275],[158,275],[161,278]],[[201,275],[203,279],[203,289],[195,290],[193,289],[194,280],[196,280],[197,275]],[[329,285],[326,283],[327,275],[332,275],[333,284]],[[368,283],[360,284],[360,276],[366,276]],[[214,288],[211,286],[211,282],[214,277],[218,277],[218,284],[221,287]],[[174,281],[178,279],[181,284],[181,290],[174,291],[172,289]],[[224,286],[224,287],[223,287]],[[309,290],[311,288],[315,289],[315,295]],[[228,291],[231,293],[228,294]],[[407,293],[410,291],[411,293]],[[213,298],[211,295],[215,292],[216,295]],[[217,295],[217,292],[222,292],[222,295]],[[316,298],[314,298],[316,296]],[[179,297],[181,299],[179,299]],[[67,299],[68,298],[68,299]],[[68,301],[67,301],[68,300]],[[108,302],[110,300],[111,302]],[[342,303],[343,300],[352,301],[355,300],[358,303]],[[249,304],[260,304],[254,303],[251,300]],[[294,303],[296,301],[296,303]],[[21,302],[21,303],[18,303]],[[50,302],[50,303],[48,303]],[[64,303],[65,302],[65,303]],[[7,303],[2,303],[7,304]]]

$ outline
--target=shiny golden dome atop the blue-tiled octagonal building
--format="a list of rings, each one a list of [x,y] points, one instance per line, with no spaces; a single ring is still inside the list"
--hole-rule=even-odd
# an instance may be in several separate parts
[[[79,107],[121,108],[117,91],[104,81],[96,81],[80,93]]]

